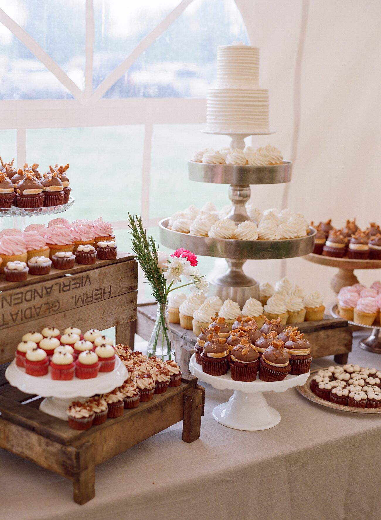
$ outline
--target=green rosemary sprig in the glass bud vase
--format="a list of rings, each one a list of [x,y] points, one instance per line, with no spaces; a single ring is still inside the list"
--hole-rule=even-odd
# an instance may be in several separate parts
[[[151,286],[153,295],[159,303],[167,303],[166,280],[158,267],[158,245],[152,237],[147,238],[141,217],[133,217],[129,213],[130,233],[132,235],[132,249],[137,256],[144,276]]]

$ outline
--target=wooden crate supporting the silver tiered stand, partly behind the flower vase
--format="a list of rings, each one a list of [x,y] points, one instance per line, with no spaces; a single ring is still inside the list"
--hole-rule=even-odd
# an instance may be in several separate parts
[[[149,340],[156,318],[156,303],[138,305],[136,332],[145,340]],[[298,324],[301,332],[308,335],[311,343],[311,353],[315,358],[335,356],[335,361],[344,364],[348,353],[352,350],[352,328],[344,319],[324,316],[321,321],[304,321]],[[171,323],[172,339],[175,348],[176,361],[181,370],[189,370],[189,359],[194,354],[196,338],[191,330],[185,330],[180,325]]]

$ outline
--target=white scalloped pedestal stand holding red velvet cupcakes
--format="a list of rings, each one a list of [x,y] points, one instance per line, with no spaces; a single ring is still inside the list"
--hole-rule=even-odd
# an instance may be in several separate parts
[[[78,379],[74,375],[71,381],[55,381],[50,375],[50,369],[46,375],[35,377],[18,367],[14,359],[5,371],[5,377],[21,392],[45,397],[40,405],[41,411],[67,421],[66,409],[72,401],[111,392],[128,378],[128,371],[116,357],[112,372],[98,372],[96,378],[92,379]]]

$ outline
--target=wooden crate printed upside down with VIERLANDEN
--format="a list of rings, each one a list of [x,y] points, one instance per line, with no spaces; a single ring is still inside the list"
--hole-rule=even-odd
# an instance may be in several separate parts
[[[24,282],[0,279],[0,363],[10,361],[21,336],[47,326],[99,330],[116,326],[116,342],[130,344],[136,319],[137,262],[129,253],[94,265],[74,264]]]

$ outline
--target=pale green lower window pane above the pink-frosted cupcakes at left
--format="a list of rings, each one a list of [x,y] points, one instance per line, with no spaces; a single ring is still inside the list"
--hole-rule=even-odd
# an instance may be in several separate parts
[[[40,163],[41,172],[70,163],[75,202],[62,217],[126,220],[128,212],[140,213],[143,138],[143,126],[132,125],[33,129],[27,131],[27,159]]]

